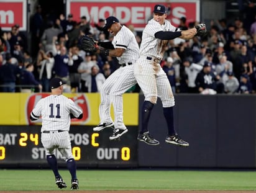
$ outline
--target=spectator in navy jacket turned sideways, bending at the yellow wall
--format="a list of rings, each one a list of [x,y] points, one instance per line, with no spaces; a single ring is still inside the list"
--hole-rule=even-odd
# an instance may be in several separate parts
[[[21,71],[21,92],[34,92],[37,91],[37,88],[42,92],[42,85],[35,79],[33,71],[34,65],[32,63],[25,66],[25,69]]]

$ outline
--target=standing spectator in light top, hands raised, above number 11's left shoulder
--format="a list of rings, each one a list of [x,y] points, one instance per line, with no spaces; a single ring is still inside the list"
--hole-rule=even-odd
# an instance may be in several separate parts
[[[42,92],[50,92],[53,65],[54,58],[52,52],[45,53],[43,50],[39,50],[37,69],[39,69],[39,81],[42,84]]]

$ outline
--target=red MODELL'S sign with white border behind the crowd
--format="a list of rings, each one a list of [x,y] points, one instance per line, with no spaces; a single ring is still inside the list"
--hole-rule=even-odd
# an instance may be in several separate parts
[[[91,23],[99,19],[116,16],[122,24],[134,25],[135,30],[143,30],[149,19],[152,19],[155,4],[163,4],[170,9],[168,20],[177,26],[180,18],[186,17],[187,23],[199,21],[199,0],[177,1],[104,1],[104,0],[68,0],[66,14],[73,14],[73,19],[79,21],[86,16]]]

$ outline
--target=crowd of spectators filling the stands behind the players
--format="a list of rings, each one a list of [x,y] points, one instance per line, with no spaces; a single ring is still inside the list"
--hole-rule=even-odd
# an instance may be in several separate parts
[[[174,93],[256,92],[256,17],[254,4],[250,6],[250,18],[212,20],[204,37],[168,42],[161,65]],[[103,30],[104,19],[92,24],[85,16],[76,21],[72,14],[67,18],[61,14],[43,21],[41,11],[37,6],[31,19],[30,52],[18,24],[10,32],[0,27],[0,91],[50,92],[49,80],[58,77],[67,83],[65,92],[99,92],[119,64],[111,56],[83,52],[79,38],[85,34],[95,40],[111,41],[112,35]],[[197,23],[187,23],[181,17],[178,27],[186,30]],[[132,25],[128,27],[140,45],[141,33]],[[136,85],[127,92],[140,92],[140,88]]]

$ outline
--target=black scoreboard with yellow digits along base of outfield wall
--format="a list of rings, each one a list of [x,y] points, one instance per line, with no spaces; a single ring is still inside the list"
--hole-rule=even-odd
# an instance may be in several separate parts
[[[119,140],[109,140],[112,128],[93,132],[93,127],[71,125],[72,153],[78,167],[127,168],[138,165],[137,127]],[[40,141],[40,125],[0,126],[0,166],[47,167],[45,150]],[[55,151],[60,167],[65,161]]]

